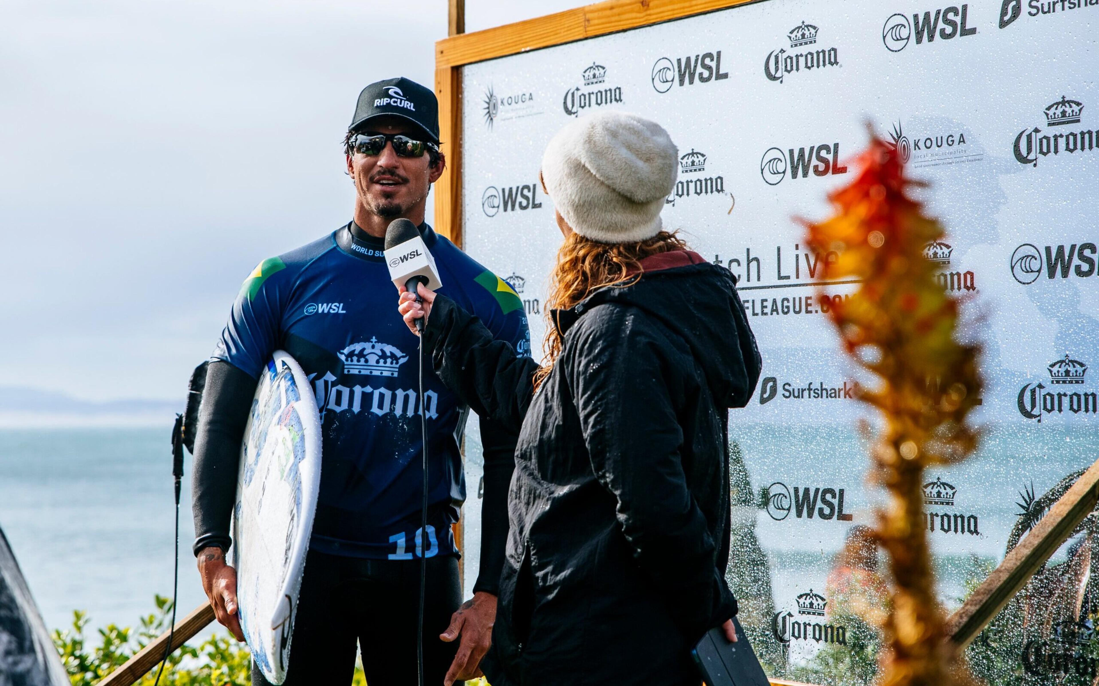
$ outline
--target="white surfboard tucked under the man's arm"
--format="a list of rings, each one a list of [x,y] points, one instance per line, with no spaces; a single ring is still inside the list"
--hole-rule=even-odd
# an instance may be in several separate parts
[[[321,425],[306,373],[275,352],[252,401],[233,510],[241,628],[273,684],[286,681],[321,485]]]

